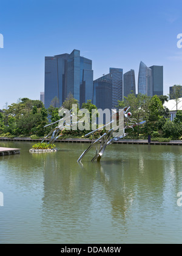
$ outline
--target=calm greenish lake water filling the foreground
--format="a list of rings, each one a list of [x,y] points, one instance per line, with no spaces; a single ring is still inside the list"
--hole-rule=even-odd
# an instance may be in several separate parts
[[[21,148],[0,157],[0,243],[182,242],[180,145],[112,144],[78,164],[87,143],[29,153],[34,143],[0,142]]]

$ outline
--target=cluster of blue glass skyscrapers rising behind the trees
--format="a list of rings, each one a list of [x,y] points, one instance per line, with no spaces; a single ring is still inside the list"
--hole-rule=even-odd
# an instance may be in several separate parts
[[[135,71],[123,74],[123,69],[110,67],[109,74],[93,80],[92,60],[80,56],[80,50],[74,49],[71,54],[59,54],[45,57],[44,97],[40,100],[45,108],[51,104],[60,107],[72,94],[79,106],[91,100],[98,108],[115,108],[118,100],[128,94],[136,94]],[[138,93],[163,95],[163,66],[147,67],[140,61],[138,72]],[[56,97],[56,102],[53,100]],[[43,100],[42,100],[43,99]]]

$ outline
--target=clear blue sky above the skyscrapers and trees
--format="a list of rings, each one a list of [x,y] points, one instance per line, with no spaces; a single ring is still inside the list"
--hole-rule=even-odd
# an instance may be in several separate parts
[[[81,51],[94,79],[109,67],[164,66],[164,94],[182,84],[182,1],[6,0],[0,5],[0,109],[44,91],[44,57]]]

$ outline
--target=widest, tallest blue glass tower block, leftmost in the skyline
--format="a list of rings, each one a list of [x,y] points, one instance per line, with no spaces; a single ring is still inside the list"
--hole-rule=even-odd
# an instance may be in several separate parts
[[[44,92],[45,108],[49,108],[55,97],[58,99],[56,105],[61,106],[69,94],[72,94],[80,105],[92,100],[92,60],[81,57],[79,50],[73,50],[71,54],[45,57]]]

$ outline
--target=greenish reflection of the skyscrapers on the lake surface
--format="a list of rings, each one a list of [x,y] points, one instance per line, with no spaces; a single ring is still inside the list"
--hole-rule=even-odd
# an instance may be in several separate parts
[[[121,154],[117,150],[115,153]],[[139,215],[138,221],[142,221],[146,213],[149,218],[163,218],[166,213],[163,209],[166,167],[158,155],[161,151],[153,151],[149,145],[145,150],[136,148],[132,157],[127,156],[125,150],[123,159],[103,157],[101,162],[86,160],[81,165],[73,154],[72,161],[64,151],[59,154],[60,157],[45,157],[42,225],[47,229],[53,226],[53,232],[61,234],[67,242],[71,242],[70,221],[74,240],[78,242],[79,236],[96,221],[91,217],[96,213],[109,216],[106,219],[112,228],[124,233],[129,232],[133,211]],[[57,220],[56,226],[52,217]]]

